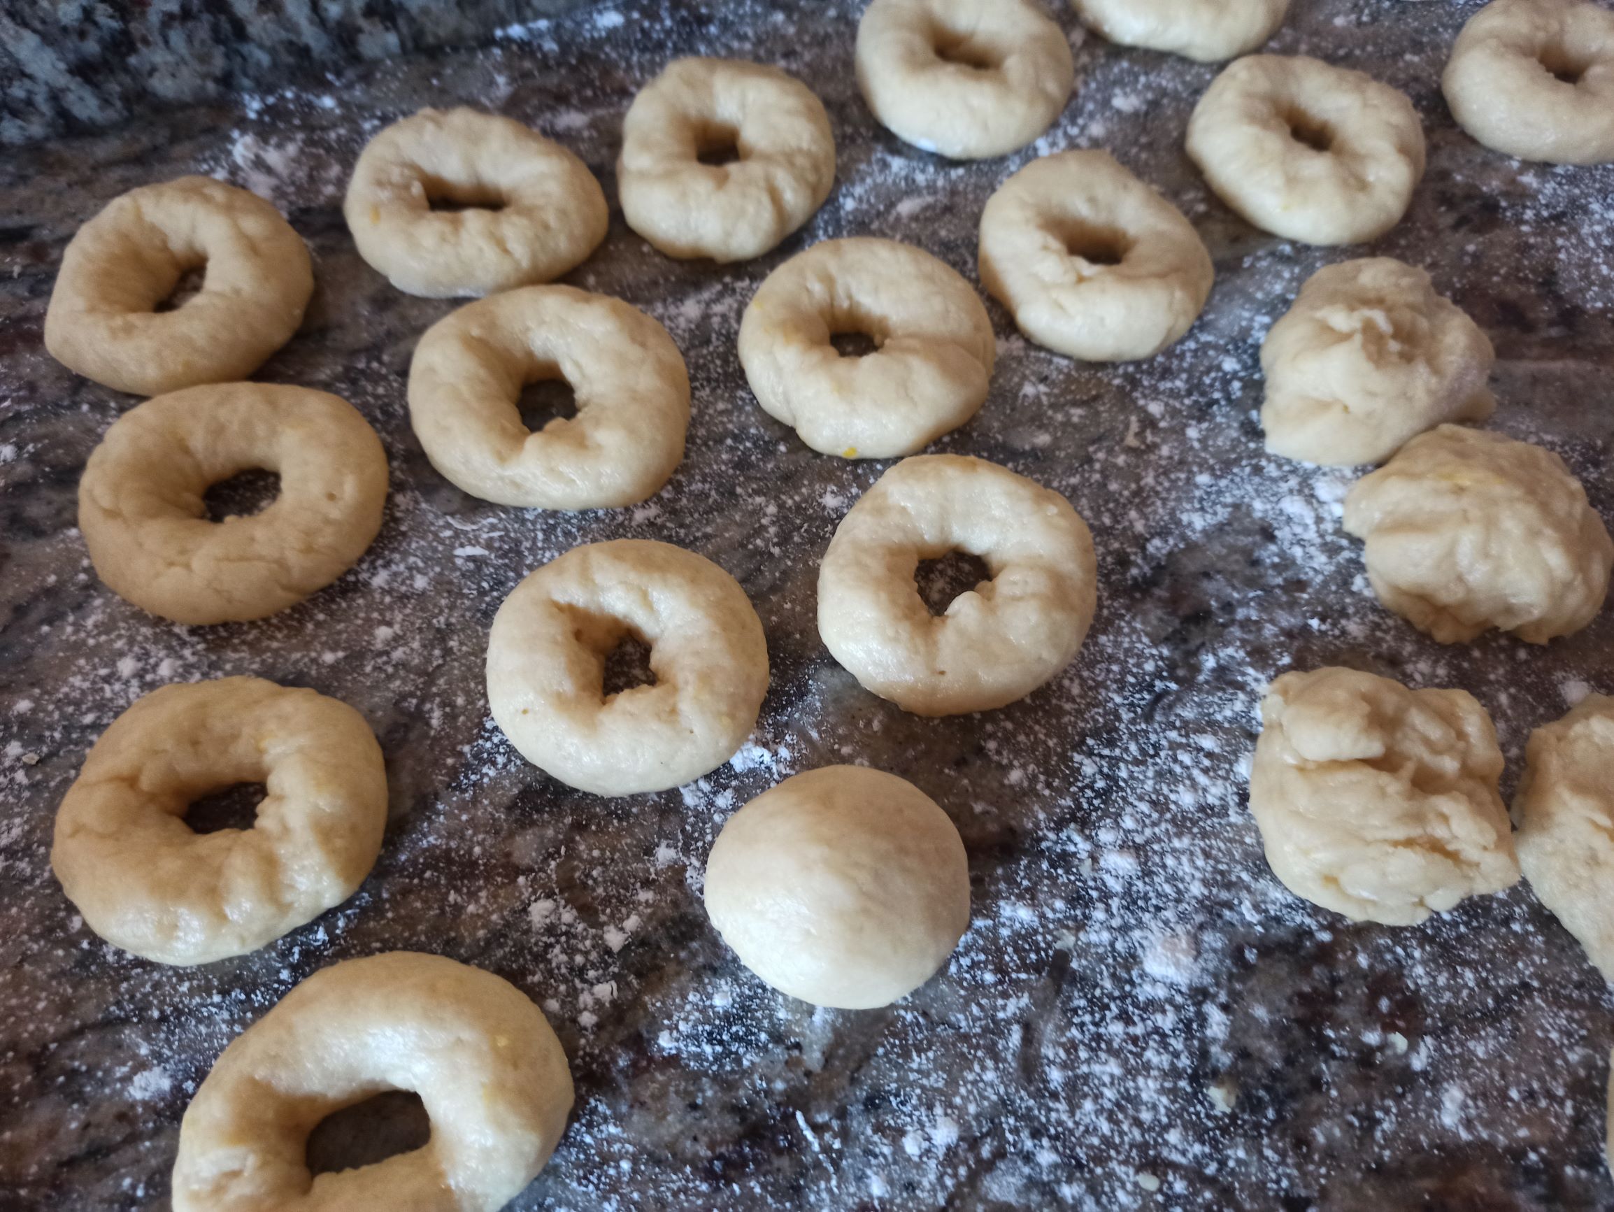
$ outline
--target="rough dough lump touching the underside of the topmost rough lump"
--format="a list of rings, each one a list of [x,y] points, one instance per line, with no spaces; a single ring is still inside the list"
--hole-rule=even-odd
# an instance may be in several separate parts
[[[1596,618],[1614,541],[1564,460],[1443,424],[1357,481],[1344,529],[1367,544],[1386,608],[1441,644],[1488,628],[1530,644]]]

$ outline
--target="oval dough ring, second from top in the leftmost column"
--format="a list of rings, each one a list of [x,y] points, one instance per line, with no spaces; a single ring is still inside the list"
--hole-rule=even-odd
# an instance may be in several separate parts
[[[261,513],[207,518],[240,471],[281,476]],[[79,529],[102,581],[174,623],[244,623],[347,571],[381,529],[387,457],[345,400],[308,387],[216,382],[119,416],[79,481]]]

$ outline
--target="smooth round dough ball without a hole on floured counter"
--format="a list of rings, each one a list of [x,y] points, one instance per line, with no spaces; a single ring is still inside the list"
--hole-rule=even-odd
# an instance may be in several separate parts
[[[739,962],[813,1005],[905,997],[970,925],[970,862],[947,813],[896,775],[825,767],[728,818],[705,907]]]

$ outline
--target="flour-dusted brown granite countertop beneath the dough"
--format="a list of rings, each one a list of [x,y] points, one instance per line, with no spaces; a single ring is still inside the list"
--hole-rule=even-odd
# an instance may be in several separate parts
[[[1493,426],[1561,452],[1614,516],[1614,166],[1485,152],[1438,94],[1474,3],[1309,0],[1273,42],[1404,89],[1430,140],[1407,219],[1367,252],[1427,266],[1498,349]],[[547,1010],[578,1105],[533,1209],[1593,1209],[1614,1001],[1524,884],[1425,926],[1351,925],[1261,855],[1244,770],[1264,683],[1351,663],[1462,686],[1493,712],[1511,794],[1528,731],[1614,691],[1614,616],[1538,649],[1440,647],[1367,592],[1340,529],[1353,474],[1269,458],[1259,344],[1322,250],[1252,231],[1181,152],[1214,69],[1085,42],[1064,118],[1023,153],[949,165],[868,116],[852,0],[613,0],[481,48],[355,63],[316,84],[153,111],[0,158],[0,1207],[168,1206],[179,1117],[220,1049],[292,984],[394,947],[497,972]],[[1078,40],[1067,11],[1059,19]],[[633,92],[678,53],[778,63],[823,97],[839,182],[784,247],[667,260],[613,211],[567,281],[667,324],[694,421],[673,481],[628,510],[473,500],[410,434],[410,350],[452,303],[392,290],[341,218],[381,124],[471,103],[583,155],[615,199]],[[734,352],[762,278],[847,234],[914,240],[973,279],[988,194],[1031,155],[1107,147],[1194,221],[1217,286],[1149,362],[1085,366],[993,305],[980,416],[936,444],[1064,492],[1093,526],[1099,615],[1067,675],[1001,712],[904,715],[857,687],[813,626],[817,562],[883,470],[815,455],[767,418]],[[119,192],[215,173],[310,242],[303,331],[258,374],[353,402],[392,466],[379,539],[310,602],[181,628],[87,565],[74,484],[134,400],[40,345],[65,242]],[[596,799],[526,765],[483,689],[489,621],[576,542],[699,550],[744,584],[773,684],[736,759],[659,796]],[[139,694],[255,673],[358,707],[387,755],[391,823],[341,909],[252,955],[166,968],[115,951],[50,875],[55,805]],[[749,976],[700,909],[721,821],[781,776],[868,762],[957,821],[973,923],[947,970],[878,1012],[813,1010]]]

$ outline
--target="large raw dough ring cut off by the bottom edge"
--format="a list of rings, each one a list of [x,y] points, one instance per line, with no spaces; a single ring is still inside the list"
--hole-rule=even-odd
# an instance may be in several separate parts
[[[420,1096],[418,1149],[315,1175],[323,1118]],[[497,1212],[555,1152],[571,1072],[549,1020],[502,976],[392,951],[321,968],[213,1064],[179,1123],[174,1212]]]

